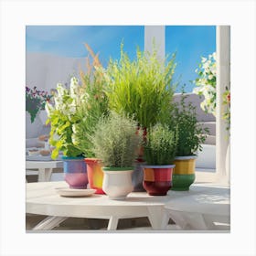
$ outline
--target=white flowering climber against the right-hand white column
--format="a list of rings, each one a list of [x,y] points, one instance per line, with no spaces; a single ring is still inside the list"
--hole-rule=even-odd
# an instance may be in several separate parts
[[[196,87],[193,92],[205,97],[200,107],[204,112],[216,115],[216,52],[209,54],[208,58],[201,58],[198,69],[195,70],[198,77],[193,82]]]

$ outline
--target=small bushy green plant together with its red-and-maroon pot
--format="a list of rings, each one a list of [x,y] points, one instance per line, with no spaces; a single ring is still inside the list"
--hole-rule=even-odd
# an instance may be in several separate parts
[[[172,186],[177,134],[157,123],[150,128],[144,144],[144,188],[151,196],[165,196]]]

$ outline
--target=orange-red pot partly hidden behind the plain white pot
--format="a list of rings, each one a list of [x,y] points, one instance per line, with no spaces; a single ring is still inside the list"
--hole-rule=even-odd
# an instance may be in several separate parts
[[[95,194],[105,194],[102,190],[103,171],[97,158],[85,158],[90,188],[96,189]]]

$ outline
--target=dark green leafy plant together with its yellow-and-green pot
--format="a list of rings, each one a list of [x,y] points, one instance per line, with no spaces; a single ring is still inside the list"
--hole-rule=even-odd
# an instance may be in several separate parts
[[[197,152],[202,150],[208,134],[208,128],[197,123],[196,108],[191,102],[185,102],[182,92],[181,101],[176,103],[172,112],[172,127],[177,127],[178,140],[173,172],[172,190],[188,190],[195,181]]]

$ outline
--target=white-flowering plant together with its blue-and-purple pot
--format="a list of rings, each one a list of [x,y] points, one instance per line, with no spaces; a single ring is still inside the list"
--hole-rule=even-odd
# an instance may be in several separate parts
[[[86,104],[87,99],[88,95],[84,88],[73,77],[69,89],[62,84],[57,85],[54,104],[48,102],[46,105],[47,124],[49,122],[51,124],[49,144],[55,147],[51,156],[56,159],[59,152],[63,153],[64,176],[70,188],[86,188],[88,184],[84,156],[73,136],[75,124],[81,121],[78,110],[81,109],[80,106]]]

